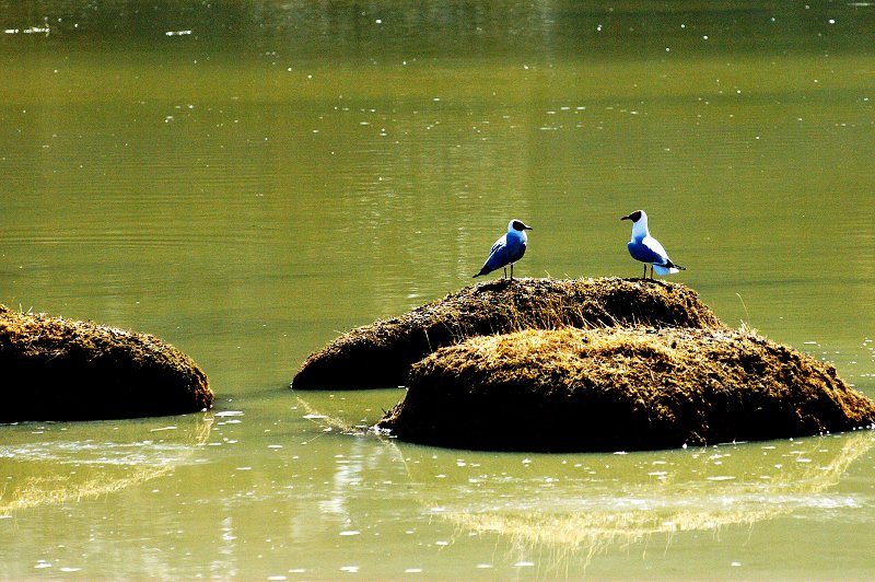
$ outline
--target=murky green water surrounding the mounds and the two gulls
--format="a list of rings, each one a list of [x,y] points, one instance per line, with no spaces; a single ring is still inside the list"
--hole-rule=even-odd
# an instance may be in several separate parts
[[[217,393],[0,427],[0,577],[875,574],[871,431],[498,455],[354,430],[398,389],[287,387],[510,218],[518,276],[637,276],[644,208],[674,280],[875,397],[875,7],[229,4],[0,2],[0,302]]]

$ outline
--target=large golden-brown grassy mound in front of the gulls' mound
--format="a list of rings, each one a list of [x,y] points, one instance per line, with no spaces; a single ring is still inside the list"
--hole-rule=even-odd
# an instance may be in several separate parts
[[[498,451],[631,451],[843,431],[875,403],[836,369],[731,329],[559,329],[471,338],[416,364],[377,424]]]

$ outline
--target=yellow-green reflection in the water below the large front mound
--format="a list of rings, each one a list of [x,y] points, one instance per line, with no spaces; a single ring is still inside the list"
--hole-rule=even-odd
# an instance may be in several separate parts
[[[679,532],[752,526],[804,508],[854,503],[824,493],[873,444],[872,431],[862,431],[801,442],[666,451],[656,461],[633,454],[605,464],[604,456],[586,456],[572,466],[561,461],[561,467],[552,467],[561,472],[556,477],[532,481],[482,469],[465,470],[456,479],[439,474],[435,480],[439,467],[428,456],[408,445],[399,445],[399,454],[406,455],[410,476],[433,514],[465,532],[498,534],[514,552],[547,550],[561,570],[565,560],[582,555],[586,564],[616,546],[641,544],[645,552],[656,534],[666,536],[667,548]],[[503,493],[502,484],[512,497]]]

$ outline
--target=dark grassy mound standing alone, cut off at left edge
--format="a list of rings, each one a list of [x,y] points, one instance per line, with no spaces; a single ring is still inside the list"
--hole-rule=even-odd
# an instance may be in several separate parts
[[[209,408],[207,375],[160,339],[0,305],[0,422],[97,420]]]

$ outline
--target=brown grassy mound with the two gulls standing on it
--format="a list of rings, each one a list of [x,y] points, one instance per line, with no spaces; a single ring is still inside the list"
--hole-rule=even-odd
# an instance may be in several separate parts
[[[466,287],[400,317],[352,329],[312,353],[296,389],[407,383],[410,365],[471,336],[520,329],[634,326],[723,328],[687,287],[642,279],[498,279]]]

